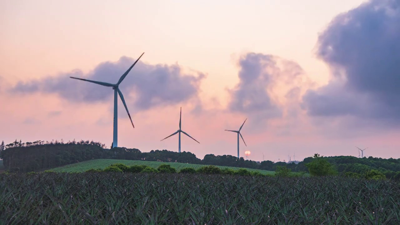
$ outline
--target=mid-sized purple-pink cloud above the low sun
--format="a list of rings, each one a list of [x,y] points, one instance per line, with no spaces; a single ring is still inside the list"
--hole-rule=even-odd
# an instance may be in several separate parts
[[[277,56],[256,53],[240,58],[239,66],[239,84],[229,90],[229,110],[257,115],[257,119],[282,116],[281,105],[271,97],[272,89],[278,82],[292,85],[303,74],[302,68]]]

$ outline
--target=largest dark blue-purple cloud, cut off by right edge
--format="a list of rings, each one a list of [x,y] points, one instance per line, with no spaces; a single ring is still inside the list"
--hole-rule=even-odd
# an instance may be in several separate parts
[[[371,0],[336,16],[317,54],[333,76],[303,96],[308,115],[400,125],[400,1]]]

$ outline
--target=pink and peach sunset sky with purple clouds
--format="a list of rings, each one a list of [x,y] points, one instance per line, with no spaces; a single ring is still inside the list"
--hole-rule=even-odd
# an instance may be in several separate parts
[[[399,0],[2,0],[0,140],[400,158]]]

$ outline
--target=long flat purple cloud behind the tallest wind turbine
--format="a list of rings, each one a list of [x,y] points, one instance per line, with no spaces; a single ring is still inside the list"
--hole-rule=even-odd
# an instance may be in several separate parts
[[[114,94],[111,87],[75,80],[69,76],[116,83],[134,60],[123,56],[117,62],[100,63],[88,74],[81,70],[73,70],[40,80],[18,82],[11,91],[55,93],[71,102],[111,102]],[[133,102],[134,108],[131,108],[131,113],[134,113],[154,106],[176,104],[197,96],[200,81],[205,75],[196,75],[183,74],[177,64],[150,65],[139,61],[120,84],[120,89],[127,104]],[[133,97],[130,97],[131,95]],[[120,100],[118,101],[120,104]]]

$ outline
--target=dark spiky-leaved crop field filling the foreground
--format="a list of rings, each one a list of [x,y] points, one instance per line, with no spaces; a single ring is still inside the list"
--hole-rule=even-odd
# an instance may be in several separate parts
[[[398,183],[355,181],[338,176],[2,174],[0,187],[7,190],[0,192],[2,224],[40,221],[42,224],[274,225],[398,224],[400,221],[396,213],[400,199]]]

